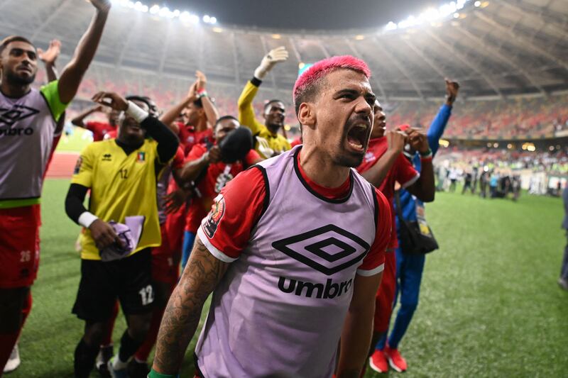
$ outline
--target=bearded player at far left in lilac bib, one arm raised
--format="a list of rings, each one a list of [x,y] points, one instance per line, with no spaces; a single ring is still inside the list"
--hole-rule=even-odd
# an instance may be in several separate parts
[[[38,53],[21,36],[0,43],[0,372],[31,308],[39,263],[39,202],[58,119],[92,61],[110,1],[91,0],[96,13],[57,81],[31,88]],[[28,300],[29,299],[29,300]],[[1,373],[0,373],[1,375]]]

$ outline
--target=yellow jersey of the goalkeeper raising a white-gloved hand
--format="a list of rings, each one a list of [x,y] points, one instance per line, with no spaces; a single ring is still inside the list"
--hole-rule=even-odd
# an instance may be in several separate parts
[[[250,80],[246,82],[243,92],[239,97],[239,122],[241,125],[250,128],[253,135],[264,138],[268,142],[268,147],[277,154],[290,150],[290,143],[284,138],[284,135],[271,133],[263,123],[256,120],[253,109],[253,99],[254,96],[256,96],[256,92],[258,92],[258,87],[251,83]],[[266,156],[262,149],[259,148],[258,140],[256,141],[255,148],[261,156],[270,157]]]

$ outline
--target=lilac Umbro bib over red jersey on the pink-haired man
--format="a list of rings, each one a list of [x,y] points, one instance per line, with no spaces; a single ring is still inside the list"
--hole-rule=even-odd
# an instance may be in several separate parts
[[[300,150],[239,174],[197,232],[231,262],[195,350],[204,377],[331,377],[356,274],[382,272],[383,194],[353,169],[341,187],[320,187]]]

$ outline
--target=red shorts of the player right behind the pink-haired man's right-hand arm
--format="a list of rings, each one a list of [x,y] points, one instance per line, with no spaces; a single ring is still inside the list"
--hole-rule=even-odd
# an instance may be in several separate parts
[[[395,252],[387,252],[385,254],[385,269],[383,270],[383,279],[381,286],[378,287],[375,296],[375,318],[373,321],[373,330],[375,332],[384,333],[388,331],[388,323],[391,321],[391,313],[393,312],[393,301],[395,300],[396,291],[396,254]]]

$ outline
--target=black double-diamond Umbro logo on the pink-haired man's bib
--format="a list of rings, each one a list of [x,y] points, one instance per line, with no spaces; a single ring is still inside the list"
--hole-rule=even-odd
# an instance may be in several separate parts
[[[371,249],[359,236],[332,224],[275,241],[272,246],[328,276],[360,262]]]

